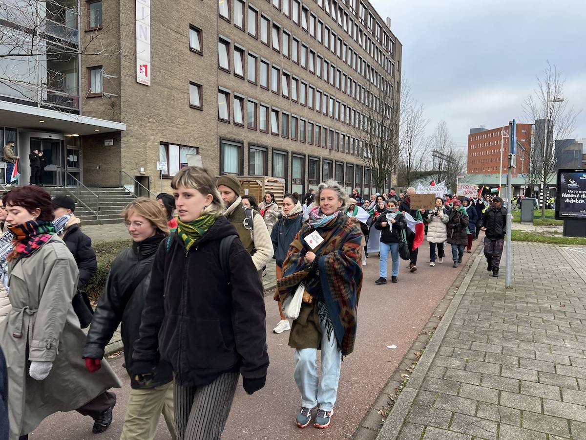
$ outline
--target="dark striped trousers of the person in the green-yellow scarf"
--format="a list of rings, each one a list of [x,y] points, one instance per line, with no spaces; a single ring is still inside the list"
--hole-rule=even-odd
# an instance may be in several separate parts
[[[226,426],[240,373],[224,373],[212,383],[183,387],[175,382],[178,440],[219,440]]]

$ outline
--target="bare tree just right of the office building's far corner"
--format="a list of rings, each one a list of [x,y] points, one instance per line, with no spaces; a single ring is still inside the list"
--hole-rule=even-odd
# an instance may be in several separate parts
[[[403,106],[403,116],[399,129],[400,153],[397,166],[397,182],[401,187],[410,187],[418,178],[427,174],[425,155],[427,137],[425,128],[430,122],[423,117],[423,104],[408,100]]]

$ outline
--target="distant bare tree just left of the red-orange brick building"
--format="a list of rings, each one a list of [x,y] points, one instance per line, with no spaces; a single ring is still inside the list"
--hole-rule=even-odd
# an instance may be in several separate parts
[[[458,175],[465,169],[466,157],[454,148],[448,124],[440,121],[430,137],[432,170],[437,183],[445,182],[448,189],[456,190]]]

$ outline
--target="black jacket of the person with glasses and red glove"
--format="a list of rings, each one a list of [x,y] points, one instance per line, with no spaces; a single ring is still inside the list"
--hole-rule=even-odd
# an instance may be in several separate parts
[[[142,309],[144,309],[145,296],[151,273],[144,274],[147,268],[152,266],[155,253],[161,241],[166,237],[155,235],[140,243],[132,243],[132,247],[124,249],[112,263],[112,270],[104,287],[104,292],[98,302],[96,312],[91,320],[86,346],[83,348],[83,357],[101,359],[104,357],[104,347],[108,344],[122,322],[121,336],[124,344],[124,367],[130,375],[132,388],[145,388],[134,380],[132,371],[132,351],[134,341],[138,339],[138,331],[141,325]],[[137,276],[144,276],[133,292],[128,289],[134,283]],[[159,362],[154,370],[153,383],[149,387],[168,384],[173,379],[173,370],[169,363]]]

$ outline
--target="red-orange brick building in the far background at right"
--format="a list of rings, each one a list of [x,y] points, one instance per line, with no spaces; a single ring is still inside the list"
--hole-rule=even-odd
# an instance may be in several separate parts
[[[531,149],[532,124],[517,124],[517,168],[513,170],[513,177],[529,172],[529,151]],[[500,155],[502,139],[502,168]],[[509,157],[509,126],[496,127],[487,130],[484,127],[471,128],[468,135],[468,169],[467,174],[505,174],[507,172],[507,158]],[[500,168],[500,171],[499,171]]]

